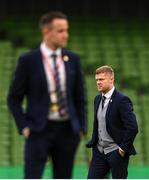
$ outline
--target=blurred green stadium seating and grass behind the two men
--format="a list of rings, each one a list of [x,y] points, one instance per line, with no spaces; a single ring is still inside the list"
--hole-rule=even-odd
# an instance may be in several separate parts
[[[116,73],[116,87],[134,103],[139,125],[137,156],[128,178],[149,178],[149,6],[145,0],[1,0],[0,1],[0,178],[23,177],[23,138],[8,112],[6,97],[18,57],[38,47],[39,17],[60,10],[70,21],[68,49],[81,58],[88,99],[88,134],[81,142],[73,178],[86,178],[91,150],[95,69],[107,64]],[[44,178],[51,177],[50,160]]]

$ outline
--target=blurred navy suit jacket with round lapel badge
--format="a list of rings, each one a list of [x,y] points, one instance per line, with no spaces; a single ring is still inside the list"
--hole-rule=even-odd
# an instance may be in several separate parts
[[[64,56],[69,58],[67,62],[64,61],[64,64],[71,125],[75,133],[80,131],[85,133],[86,100],[79,58],[74,53],[63,49],[62,57]],[[26,96],[25,110],[22,108],[24,96]],[[9,90],[8,106],[20,133],[25,127],[29,127],[31,131],[40,132],[46,126],[50,97],[40,49],[20,57]]]

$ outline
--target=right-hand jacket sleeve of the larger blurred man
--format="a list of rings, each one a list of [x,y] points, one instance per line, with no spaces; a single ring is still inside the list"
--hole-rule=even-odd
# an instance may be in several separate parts
[[[77,77],[76,77],[76,85],[75,85],[75,101],[77,106],[77,111],[79,115],[81,131],[86,134],[87,133],[87,98],[86,98],[86,88],[85,88],[85,80],[83,76],[83,71],[80,65],[80,60],[76,57],[76,69],[77,69]]]

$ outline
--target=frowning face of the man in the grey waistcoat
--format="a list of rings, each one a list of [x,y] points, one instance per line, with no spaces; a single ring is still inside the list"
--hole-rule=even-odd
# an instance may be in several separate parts
[[[114,77],[110,73],[95,75],[96,85],[99,92],[107,93],[113,87]]]

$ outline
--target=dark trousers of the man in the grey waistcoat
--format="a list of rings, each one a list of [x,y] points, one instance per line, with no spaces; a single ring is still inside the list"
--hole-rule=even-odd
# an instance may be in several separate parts
[[[129,156],[121,157],[118,150],[105,155],[100,153],[97,147],[94,147],[88,179],[103,179],[107,177],[110,170],[113,179],[126,179],[128,175],[128,162]]]

